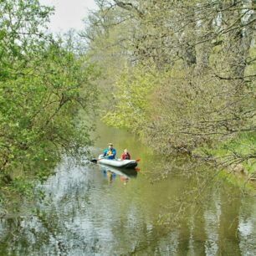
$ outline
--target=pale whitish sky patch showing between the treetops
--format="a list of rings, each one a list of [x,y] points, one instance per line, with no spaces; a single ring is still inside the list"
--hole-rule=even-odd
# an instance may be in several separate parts
[[[49,29],[53,33],[63,33],[70,28],[77,30],[84,28],[82,20],[88,15],[88,10],[96,8],[94,0],[39,0],[39,2],[55,8],[49,23]]]

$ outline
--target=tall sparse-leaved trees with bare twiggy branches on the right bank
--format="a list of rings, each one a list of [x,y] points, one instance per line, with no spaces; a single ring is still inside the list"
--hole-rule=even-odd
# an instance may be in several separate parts
[[[161,78],[144,95],[147,101],[141,117],[146,119],[141,118],[145,123],[140,132],[146,141],[167,154],[192,152],[198,146],[213,146],[213,142],[255,131],[253,1],[101,3],[111,11],[112,18],[121,16],[125,20],[125,29],[119,23],[107,28],[108,34],[118,28],[121,35],[125,34],[125,44],[119,44],[117,50],[122,52],[128,46],[124,52],[128,69],[144,67],[141,74],[150,72]],[[100,29],[99,23],[97,26]],[[113,49],[106,41],[104,47]],[[117,74],[121,75],[119,71]],[[133,79],[130,85],[138,82]],[[124,103],[124,91],[120,91],[120,79],[114,81],[118,106]],[[114,111],[107,118],[117,115],[119,112]],[[125,125],[125,117],[112,123]],[[129,123],[128,127],[136,129],[136,125]]]

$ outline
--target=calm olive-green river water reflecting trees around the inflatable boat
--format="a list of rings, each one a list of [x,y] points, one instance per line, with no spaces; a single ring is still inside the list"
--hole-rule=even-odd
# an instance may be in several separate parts
[[[95,156],[113,142],[119,156],[128,148],[141,158],[140,171],[66,159],[42,185],[46,197],[35,202],[36,211],[24,203],[21,216],[1,219],[1,255],[256,255],[255,197],[241,197],[230,184],[213,186],[179,212],[172,206],[189,205],[184,193],[196,177],[152,182],[166,172],[161,156],[125,131],[100,126],[98,133]]]

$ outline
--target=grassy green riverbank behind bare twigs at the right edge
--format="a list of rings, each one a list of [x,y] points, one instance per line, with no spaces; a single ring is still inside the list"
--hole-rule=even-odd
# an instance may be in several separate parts
[[[214,166],[222,171],[220,176],[229,182],[256,190],[256,160],[253,151],[255,143],[254,133],[243,133],[216,146],[199,147],[192,155],[214,161]]]

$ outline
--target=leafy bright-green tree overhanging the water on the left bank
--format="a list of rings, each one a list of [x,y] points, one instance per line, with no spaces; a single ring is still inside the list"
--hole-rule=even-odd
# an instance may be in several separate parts
[[[96,74],[70,37],[45,32],[51,8],[8,0],[0,12],[0,187],[26,192],[63,152],[76,155],[90,145],[90,125],[78,115],[95,106]]]

